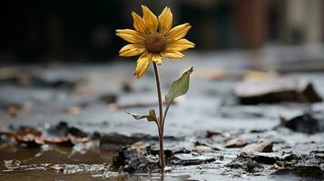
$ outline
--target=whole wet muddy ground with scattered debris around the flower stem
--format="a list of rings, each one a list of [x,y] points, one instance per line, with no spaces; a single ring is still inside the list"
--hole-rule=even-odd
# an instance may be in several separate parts
[[[195,69],[168,115],[164,175],[155,125],[124,112],[156,109],[152,71],[136,80],[129,62],[4,66],[0,180],[323,180],[324,73],[248,71],[261,67],[250,59],[163,64],[163,92]]]

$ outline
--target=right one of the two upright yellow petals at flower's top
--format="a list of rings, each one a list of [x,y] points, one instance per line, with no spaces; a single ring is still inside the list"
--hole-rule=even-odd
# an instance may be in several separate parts
[[[160,33],[168,33],[172,27],[173,14],[169,7],[165,7],[159,15]]]

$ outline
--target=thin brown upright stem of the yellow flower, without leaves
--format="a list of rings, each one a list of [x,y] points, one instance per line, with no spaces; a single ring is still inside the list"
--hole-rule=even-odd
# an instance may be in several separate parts
[[[154,75],[156,81],[156,88],[158,91],[158,99],[159,99],[159,110],[160,110],[160,119],[157,122],[159,129],[159,142],[160,142],[160,164],[162,169],[164,168],[164,150],[163,150],[163,108],[162,108],[162,94],[161,94],[161,86],[160,86],[160,78],[158,68],[155,62],[153,62]]]

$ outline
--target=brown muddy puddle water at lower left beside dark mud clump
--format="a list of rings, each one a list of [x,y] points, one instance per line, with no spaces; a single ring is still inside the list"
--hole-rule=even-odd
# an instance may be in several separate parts
[[[1,143],[0,180],[93,180],[93,175],[110,169],[114,154],[114,149],[80,153],[54,145],[20,148],[13,143]],[[13,164],[5,165],[11,160]]]

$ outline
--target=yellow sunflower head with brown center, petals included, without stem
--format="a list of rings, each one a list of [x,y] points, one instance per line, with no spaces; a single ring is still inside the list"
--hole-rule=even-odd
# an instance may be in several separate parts
[[[191,29],[190,24],[180,24],[172,28],[172,12],[165,7],[157,17],[142,5],[142,17],[132,12],[135,30],[116,30],[116,35],[129,42],[119,51],[120,56],[140,55],[134,75],[137,78],[147,71],[151,62],[162,64],[162,57],[182,59],[182,51],[195,46],[183,37]]]

